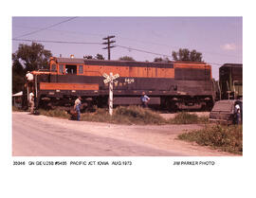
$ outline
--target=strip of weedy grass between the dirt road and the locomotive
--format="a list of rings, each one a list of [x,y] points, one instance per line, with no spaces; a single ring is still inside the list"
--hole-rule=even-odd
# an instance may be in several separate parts
[[[43,110],[40,109],[40,114],[47,117],[63,117],[70,118],[64,110]],[[108,113],[108,109],[97,109],[96,111],[86,112],[81,114],[83,121],[108,122],[116,124],[201,124],[208,123],[208,117],[197,117],[195,114],[178,113],[174,118],[164,119],[150,109],[140,106],[119,106],[114,109],[113,116]]]

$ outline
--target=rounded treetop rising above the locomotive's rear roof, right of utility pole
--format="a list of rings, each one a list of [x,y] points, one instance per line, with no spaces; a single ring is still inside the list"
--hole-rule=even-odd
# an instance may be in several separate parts
[[[180,48],[178,52],[173,51],[174,61],[180,62],[203,62],[202,53],[195,49],[190,51],[187,48]]]

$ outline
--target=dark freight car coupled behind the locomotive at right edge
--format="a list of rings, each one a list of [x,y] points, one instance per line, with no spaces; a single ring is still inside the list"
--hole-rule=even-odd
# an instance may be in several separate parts
[[[220,99],[243,98],[243,64],[225,63],[219,68]]]

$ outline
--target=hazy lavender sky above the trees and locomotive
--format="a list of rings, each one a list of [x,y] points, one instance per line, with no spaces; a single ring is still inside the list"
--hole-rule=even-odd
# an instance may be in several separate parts
[[[179,48],[195,49],[211,64],[216,80],[222,64],[243,63],[242,17],[12,17],[12,39],[97,43],[38,42],[57,57],[100,53],[107,59],[101,43],[109,35],[115,36],[117,45],[111,49],[111,60],[122,56],[142,62],[153,62],[155,57],[172,60],[172,52]],[[13,53],[19,44],[31,42],[12,41]]]

